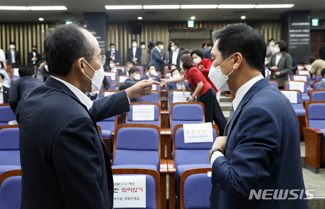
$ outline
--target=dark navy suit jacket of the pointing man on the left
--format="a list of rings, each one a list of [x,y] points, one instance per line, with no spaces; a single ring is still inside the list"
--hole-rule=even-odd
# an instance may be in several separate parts
[[[49,77],[26,96],[19,120],[21,208],[113,208],[110,156],[96,122],[129,111],[125,91],[87,108]]]

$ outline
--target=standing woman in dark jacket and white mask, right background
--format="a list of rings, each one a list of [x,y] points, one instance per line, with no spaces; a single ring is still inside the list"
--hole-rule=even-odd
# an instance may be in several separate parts
[[[291,71],[293,64],[291,56],[285,50],[286,43],[284,41],[275,43],[274,54],[269,62],[270,80],[277,81],[279,89],[284,89],[284,82],[288,80],[288,72]]]

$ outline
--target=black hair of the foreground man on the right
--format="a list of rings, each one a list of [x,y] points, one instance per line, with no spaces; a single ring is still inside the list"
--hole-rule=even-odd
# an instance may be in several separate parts
[[[227,25],[212,34],[218,42],[222,59],[239,52],[247,64],[262,72],[266,57],[266,43],[262,32],[244,23]]]

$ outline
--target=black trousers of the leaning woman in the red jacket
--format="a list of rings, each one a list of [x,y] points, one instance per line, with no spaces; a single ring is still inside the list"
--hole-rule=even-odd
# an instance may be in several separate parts
[[[211,87],[199,97],[199,101],[204,103],[205,122],[212,123],[214,121],[219,128],[219,136],[223,136],[224,127],[227,121],[222,114],[214,89]]]

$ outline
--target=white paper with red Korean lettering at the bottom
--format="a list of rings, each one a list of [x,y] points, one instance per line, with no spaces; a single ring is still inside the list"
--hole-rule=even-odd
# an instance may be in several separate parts
[[[113,207],[146,207],[146,176],[117,176],[114,180]]]

